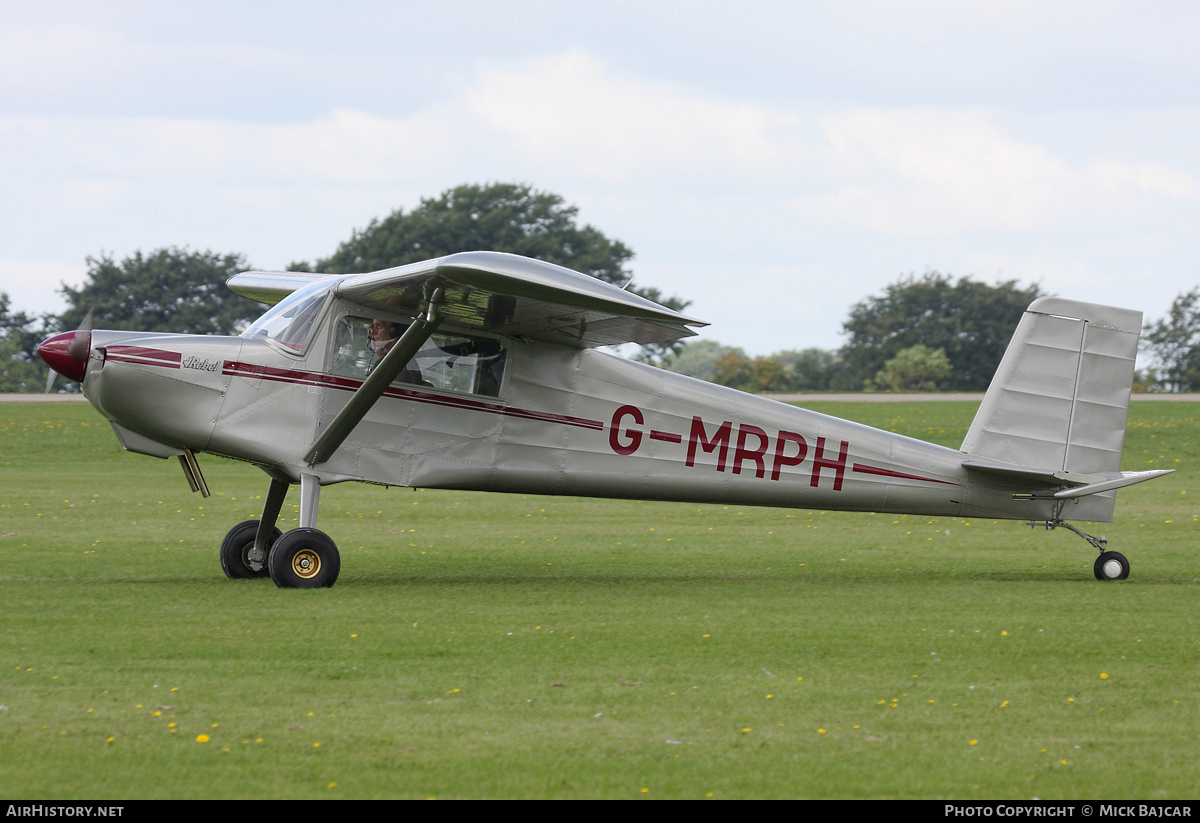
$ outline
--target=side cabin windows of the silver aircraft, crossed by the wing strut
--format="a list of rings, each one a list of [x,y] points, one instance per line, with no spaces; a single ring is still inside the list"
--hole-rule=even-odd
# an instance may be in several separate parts
[[[365,378],[391,350],[408,325],[365,317],[337,323],[330,371]],[[443,391],[498,397],[505,352],[498,340],[473,335],[434,334],[394,382]]]

